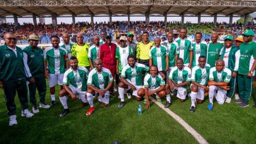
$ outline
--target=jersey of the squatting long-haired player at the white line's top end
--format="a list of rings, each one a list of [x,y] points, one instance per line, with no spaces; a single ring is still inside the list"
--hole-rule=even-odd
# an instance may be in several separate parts
[[[158,74],[155,77],[152,77],[151,74],[147,74],[144,78],[144,86],[149,87],[149,89],[156,89],[160,87],[160,85],[165,85],[164,79],[162,79],[161,75]]]

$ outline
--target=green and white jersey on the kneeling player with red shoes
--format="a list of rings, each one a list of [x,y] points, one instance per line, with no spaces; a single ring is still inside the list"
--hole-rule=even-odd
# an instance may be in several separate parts
[[[105,89],[108,83],[113,80],[113,76],[107,68],[102,67],[101,73],[98,73],[96,68],[94,68],[89,73],[87,84],[94,85],[98,89]]]

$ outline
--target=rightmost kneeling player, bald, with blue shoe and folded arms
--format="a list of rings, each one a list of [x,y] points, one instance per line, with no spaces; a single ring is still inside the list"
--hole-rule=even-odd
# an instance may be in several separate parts
[[[226,99],[227,90],[229,90],[229,82],[231,79],[231,71],[225,67],[223,60],[217,60],[215,67],[210,69],[209,74],[209,101],[208,110],[213,109],[213,96],[216,96],[218,104],[223,105]],[[218,90],[216,94],[216,90]]]

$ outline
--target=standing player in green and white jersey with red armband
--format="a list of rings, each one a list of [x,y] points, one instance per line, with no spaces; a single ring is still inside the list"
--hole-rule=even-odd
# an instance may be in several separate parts
[[[65,73],[65,66],[69,67],[68,52],[66,49],[59,46],[59,37],[52,35],[50,37],[52,46],[44,50],[44,77],[49,78],[50,94],[52,103],[50,106],[56,104],[55,100],[55,85],[60,85],[63,89],[63,76]],[[47,66],[49,70],[47,69]]]

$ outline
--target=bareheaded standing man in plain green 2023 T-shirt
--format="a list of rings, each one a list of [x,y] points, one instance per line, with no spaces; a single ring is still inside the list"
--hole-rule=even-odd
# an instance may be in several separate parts
[[[219,34],[213,33],[211,37],[212,43],[210,43],[208,46],[207,63],[210,65],[210,67],[215,67],[215,62],[220,59],[220,55],[222,55],[222,51],[224,49],[223,44],[217,41],[218,38]]]

